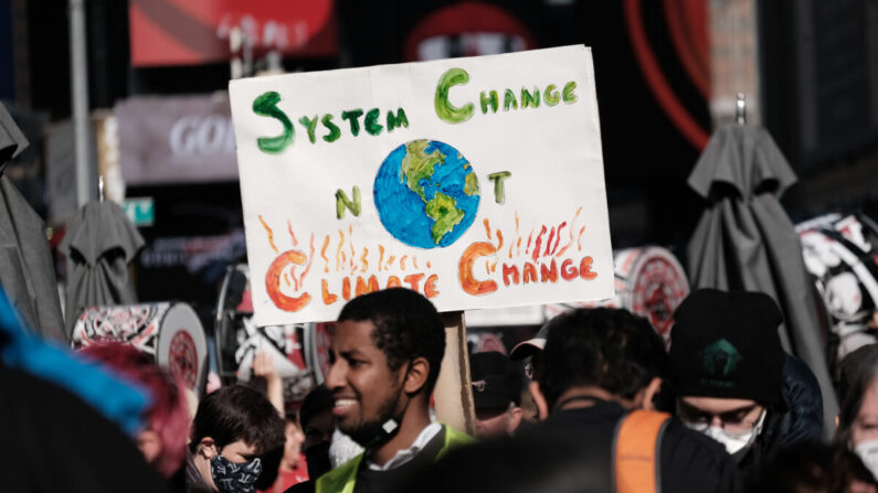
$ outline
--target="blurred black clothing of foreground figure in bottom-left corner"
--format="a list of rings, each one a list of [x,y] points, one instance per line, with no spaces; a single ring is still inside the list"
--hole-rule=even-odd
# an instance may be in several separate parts
[[[78,396],[0,363],[0,491],[163,493],[134,440]]]

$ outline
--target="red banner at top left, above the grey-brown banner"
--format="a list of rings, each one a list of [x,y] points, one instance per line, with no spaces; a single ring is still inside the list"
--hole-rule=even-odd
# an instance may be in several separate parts
[[[332,0],[131,0],[134,66],[197,65],[229,60],[240,28],[255,53],[335,56]]]

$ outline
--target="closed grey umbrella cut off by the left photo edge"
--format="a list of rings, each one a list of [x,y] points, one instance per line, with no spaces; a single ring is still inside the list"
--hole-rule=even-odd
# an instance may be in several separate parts
[[[28,141],[0,104],[0,286],[36,332],[64,339],[55,268],[43,219],[2,175]]]

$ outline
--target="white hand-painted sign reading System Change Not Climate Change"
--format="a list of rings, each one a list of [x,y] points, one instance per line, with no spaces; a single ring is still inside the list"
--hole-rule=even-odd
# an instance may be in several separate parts
[[[232,81],[258,325],[613,297],[584,46]]]

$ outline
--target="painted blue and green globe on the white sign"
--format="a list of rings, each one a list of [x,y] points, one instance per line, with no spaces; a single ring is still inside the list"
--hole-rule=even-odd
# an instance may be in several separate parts
[[[469,161],[437,140],[412,140],[394,149],[381,163],[373,190],[381,224],[413,247],[453,244],[478,211],[478,179]]]

